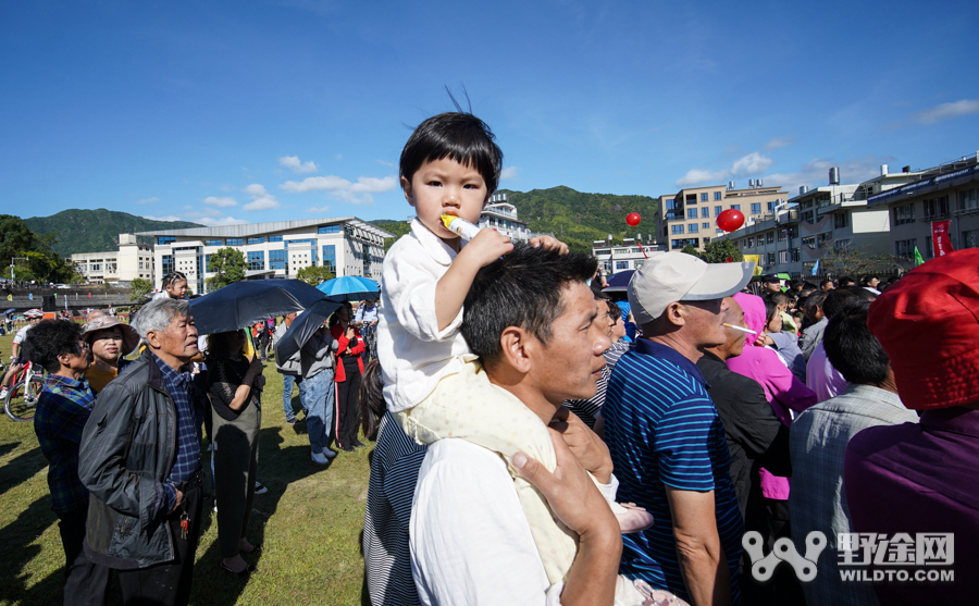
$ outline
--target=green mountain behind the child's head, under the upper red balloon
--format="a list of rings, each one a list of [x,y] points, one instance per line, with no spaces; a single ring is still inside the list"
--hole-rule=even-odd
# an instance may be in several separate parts
[[[513,191],[500,189],[507,201],[517,207],[518,217],[528,222],[532,232],[554,234],[571,250],[591,252],[592,243],[612,238],[621,242],[636,234],[650,234],[655,228],[658,203],[648,196],[617,196],[585,194],[563,185],[550,189]],[[643,222],[635,227],[625,223],[625,215],[637,212]],[[397,236],[408,233],[407,221],[372,221]],[[394,238],[387,246],[394,244]]]

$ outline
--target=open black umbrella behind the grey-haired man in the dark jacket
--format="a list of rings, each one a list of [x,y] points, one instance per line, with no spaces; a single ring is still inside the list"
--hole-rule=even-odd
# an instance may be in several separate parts
[[[225,333],[302,311],[324,297],[300,280],[247,280],[193,299],[190,313],[200,334]]]

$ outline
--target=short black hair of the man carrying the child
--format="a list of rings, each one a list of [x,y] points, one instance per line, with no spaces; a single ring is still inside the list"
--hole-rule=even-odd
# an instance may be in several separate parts
[[[590,255],[560,255],[518,243],[472,281],[462,314],[469,348],[492,366],[503,354],[499,337],[509,326],[524,329],[546,345],[554,321],[565,312],[565,287],[586,283],[597,264]]]

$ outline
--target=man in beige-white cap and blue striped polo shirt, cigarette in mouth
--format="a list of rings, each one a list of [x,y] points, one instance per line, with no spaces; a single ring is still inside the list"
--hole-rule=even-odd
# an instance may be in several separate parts
[[[643,338],[616,364],[602,412],[619,498],[656,519],[622,537],[619,571],[698,605],[740,602],[744,528],[723,425],[696,361],[727,341],[723,299],[753,270],[682,252],[636,270],[629,304]]]

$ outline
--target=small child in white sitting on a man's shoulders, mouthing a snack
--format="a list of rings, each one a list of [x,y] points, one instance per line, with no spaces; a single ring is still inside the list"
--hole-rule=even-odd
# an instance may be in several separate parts
[[[513,245],[493,230],[481,230],[463,243],[442,221],[448,214],[478,223],[501,168],[503,152],[490,127],[471,114],[430,118],[408,139],[400,159],[401,188],[418,217],[411,232],[385,255],[377,357],[384,399],[409,436],[423,444],[459,437],[504,456],[545,570],[557,582],[573,561],[577,536],[509,465],[512,455],[524,452],[553,471],[550,437],[519,399],[488,382],[460,332],[462,305],[476,272]],[[530,244],[568,250],[549,236]],[[510,422],[503,426],[499,419]],[[512,437],[515,429],[529,437]],[[634,512],[622,514],[620,520],[635,519]],[[648,525],[644,520],[642,528]]]

